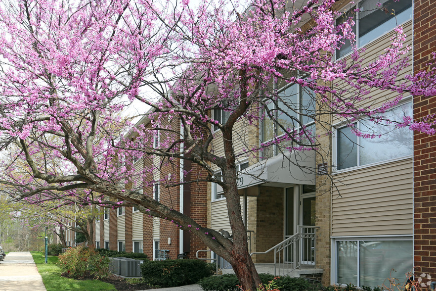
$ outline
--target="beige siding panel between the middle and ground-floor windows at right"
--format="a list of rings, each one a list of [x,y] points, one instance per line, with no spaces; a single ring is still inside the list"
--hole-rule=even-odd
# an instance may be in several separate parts
[[[336,175],[332,236],[412,234],[412,159]],[[341,195],[341,196],[339,196]]]

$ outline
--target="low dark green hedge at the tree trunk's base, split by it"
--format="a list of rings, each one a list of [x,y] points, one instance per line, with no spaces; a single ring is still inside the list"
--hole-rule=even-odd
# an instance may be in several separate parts
[[[259,274],[263,284],[267,284],[274,279],[270,274]],[[237,291],[239,284],[238,278],[234,274],[213,276],[200,280],[199,285],[204,291]],[[276,284],[280,291],[308,291],[313,290],[313,286],[303,278],[283,277],[277,278]]]

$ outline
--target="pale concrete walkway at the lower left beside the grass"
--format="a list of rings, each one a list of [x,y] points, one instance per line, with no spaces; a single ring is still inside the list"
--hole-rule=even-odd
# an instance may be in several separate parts
[[[0,262],[0,290],[46,291],[30,252],[9,252]]]

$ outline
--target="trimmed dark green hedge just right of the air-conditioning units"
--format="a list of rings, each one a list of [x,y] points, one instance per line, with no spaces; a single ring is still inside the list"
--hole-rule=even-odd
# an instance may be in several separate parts
[[[195,284],[212,275],[211,268],[201,260],[145,261],[141,272],[148,284],[160,287]]]

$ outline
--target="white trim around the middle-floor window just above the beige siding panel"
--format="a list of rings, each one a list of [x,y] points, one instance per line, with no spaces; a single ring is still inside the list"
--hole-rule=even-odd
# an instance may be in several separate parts
[[[390,108],[390,109],[404,105],[405,103],[409,103],[409,102],[412,102],[411,96],[403,98],[401,100],[401,102],[399,102],[395,106],[392,106],[392,108]],[[412,102],[412,110],[413,110],[413,102]],[[365,116],[364,118],[358,119],[356,121],[353,121],[352,123],[357,122],[357,129],[359,129],[360,121],[364,120],[365,118],[367,118],[367,116]],[[405,156],[387,159],[387,160],[383,160],[383,161],[379,161],[379,162],[375,162],[375,163],[370,163],[370,164],[365,164],[365,165],[357,165],[354,167],[349,167],[346,169],[338,170],[337,169],[337,164],[338,164],[338,130],[346,127],[347,124],[348,124],[347,122],[338,122],[332,126],[334,128],[333,137],[332,137],[332,161],[333,161],[332,174],[333,175],[347,173],[347,172],[355,171],[357,169],[365,169],[365,168],[374,167],[377,165],[383,165],[383,164],[388,164],[388,163],[392,163],[392,162],[396,162],[396,161],[406,160],[406,159],[410,159],[413,157],[413,151],[412,151],[412,154],[410,154],[410,155],[405,155]],[[411,142],[413,143],[413,140]],[[357,146],[357,148],[359,147],[359,138],[357,139],[356,146]],[[357,160],[358,159],[359,159],[359,154],[357,154]]]

